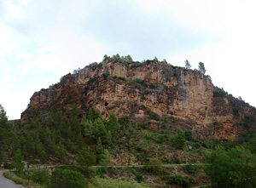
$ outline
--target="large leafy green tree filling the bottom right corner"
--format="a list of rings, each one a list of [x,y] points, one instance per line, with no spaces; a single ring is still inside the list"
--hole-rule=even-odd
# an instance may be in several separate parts
[[[218,146],[215,151],[205,151],[205,172],[214,187],[255,187],[256,156],[242,146],[225,151]]]

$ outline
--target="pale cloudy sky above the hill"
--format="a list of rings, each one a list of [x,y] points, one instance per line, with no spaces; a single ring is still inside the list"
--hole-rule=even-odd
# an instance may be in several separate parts
[[[32,94],[104,54],[201,61],[212,83],[255,100],[255,0],[0,0],[0,104],[20,118]]]

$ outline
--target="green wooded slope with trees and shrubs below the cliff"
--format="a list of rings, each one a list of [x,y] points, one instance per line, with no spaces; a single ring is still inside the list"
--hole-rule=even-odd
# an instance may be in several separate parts
[[[9,122],[1,105],[0,161],[15,168],[6,174],[10,179],[42,187],[256,186],[255,134],[235,142],[201,141],[189,130],[167,131],[175,120],[157,121],[161,126],[150,129],[125,117],[118,121],[113,112],[103,121],[94,108],[78,111],[74,105],[65,116],[48,111]],[[114,168],[118,158],[130,168]],[[63,166],[26,170],[25,162]]]

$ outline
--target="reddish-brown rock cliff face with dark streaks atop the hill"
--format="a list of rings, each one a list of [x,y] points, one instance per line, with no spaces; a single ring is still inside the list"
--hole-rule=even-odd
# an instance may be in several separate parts
[[[256,128],[255,108],[215,88],[199,71],[165,62],[122,63],[111,58],[33,94],[21,120],[40,111],[67,111],[74,104],[78,109],[92,105],[103,118],[113,111],[119,118],[145,122],[151,128],[160,122],[149,119],[166,119],[170,127],[190,129],[200,140],[235,140]]]

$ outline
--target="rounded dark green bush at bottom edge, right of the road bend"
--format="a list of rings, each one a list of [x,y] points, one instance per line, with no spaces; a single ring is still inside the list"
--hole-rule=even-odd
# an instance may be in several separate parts
[[[70,169],[55,169],[52,173],[51,186],[56,188],[84,188],[86,186],[83,174]]]

